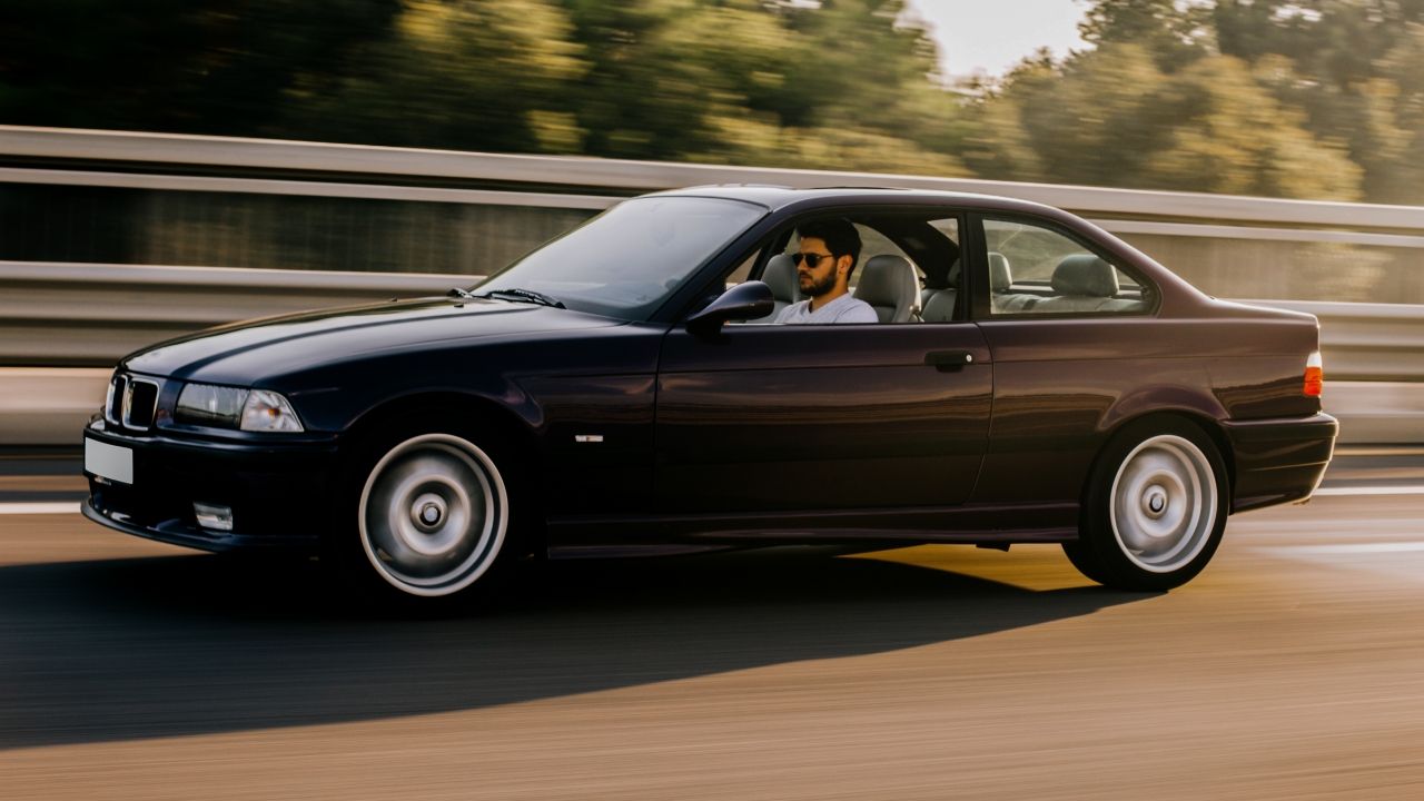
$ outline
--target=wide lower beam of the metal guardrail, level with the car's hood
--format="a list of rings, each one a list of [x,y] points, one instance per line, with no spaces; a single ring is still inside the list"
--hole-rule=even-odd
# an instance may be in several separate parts
[[[440,295],[476,281],[444,274],[0,262],[0,365],[110,366],[142,345],[224,322]],[[1246,302],[1316,315],[1333,379],[1424,382],[1424,306]]]

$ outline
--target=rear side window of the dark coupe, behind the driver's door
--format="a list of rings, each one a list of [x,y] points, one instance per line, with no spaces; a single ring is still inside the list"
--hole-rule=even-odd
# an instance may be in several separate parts
[[[1148,291],[1081,242],[1021,219],[984,219],[994,315],[1142,314]]]

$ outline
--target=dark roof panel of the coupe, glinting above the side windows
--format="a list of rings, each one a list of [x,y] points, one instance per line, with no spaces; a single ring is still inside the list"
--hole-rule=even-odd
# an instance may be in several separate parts
[[[1044,204],[1007,198],[1001,195],[983,195],[975,192],[946,192],[938,190],[904,190],[894,187],[815,187],[797,190],[793,187],[779,187],[772,184],[709,184],[705,187],[686,187],[654,192],[652,197],[711,197],[728,198],[743,202],[753,202],[770,211],[779,211],[792,205],[816,208],[820,205],[954,205],[974,207],[994,211],[1020,211],[1028,214],[1059,215],[1061,210]]]

